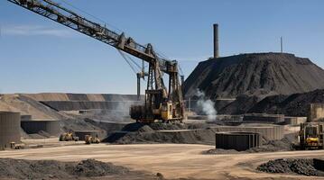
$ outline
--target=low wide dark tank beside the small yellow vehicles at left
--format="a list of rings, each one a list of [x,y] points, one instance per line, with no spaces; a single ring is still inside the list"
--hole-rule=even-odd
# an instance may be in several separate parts
[[[35,121],[22,121],[21,126],[27,134],[35,134],[40,131],[49,133],[51,136],[60,134],[60,121],[55,120],[35,120]]]

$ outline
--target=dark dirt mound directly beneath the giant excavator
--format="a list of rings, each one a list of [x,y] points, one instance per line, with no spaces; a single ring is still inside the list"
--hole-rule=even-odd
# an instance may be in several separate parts
[[[184,143],[214,144],[215,132],[210,129],[189,130],[193,126],[184,124],[130,123],[110,134],[103,141],[115,144]],[[182,128],[180,130],[180,128]]]

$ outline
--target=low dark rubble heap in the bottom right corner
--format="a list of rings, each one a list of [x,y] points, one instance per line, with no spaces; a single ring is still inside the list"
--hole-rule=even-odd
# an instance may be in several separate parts
[[[256,169],[266,173],[323,175],[323,172],[319,172],[314,167],[313,159],[279,158],[270,160],[267,163],[258,166]]]

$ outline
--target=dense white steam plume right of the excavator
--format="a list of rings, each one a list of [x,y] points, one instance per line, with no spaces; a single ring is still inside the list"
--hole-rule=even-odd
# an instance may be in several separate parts
[[[197,101],[197,108],[207,115],[208,121],[215,121],[217,115],[217,111],[214,108],[215,103],[207,98],[205,93],[199,89],[197,89],[196,95],[199,98]]]

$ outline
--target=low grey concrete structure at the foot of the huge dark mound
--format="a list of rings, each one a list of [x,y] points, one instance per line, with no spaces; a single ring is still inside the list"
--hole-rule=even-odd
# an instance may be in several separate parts
[[[245,113],[243,121],[281,123],[284,121],[284,115],[266,113]]]

